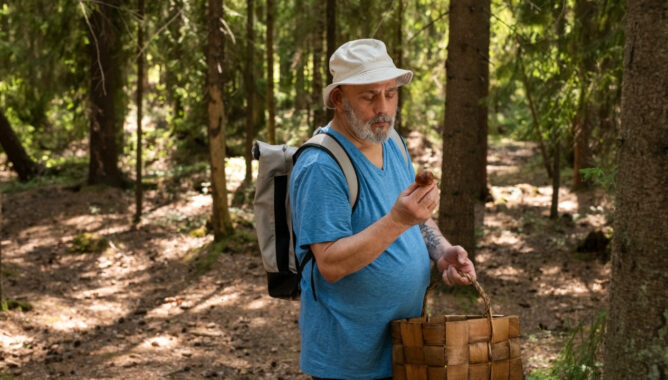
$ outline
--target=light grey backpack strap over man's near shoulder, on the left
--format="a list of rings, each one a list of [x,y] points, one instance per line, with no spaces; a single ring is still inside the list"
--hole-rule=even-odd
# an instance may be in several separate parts
[[[359,179],[357,178],[355,166],[350,160],[350,156],[348,156],[348,152],[346,152],[341,143],[334,136],[327,132],[322,132],[311,137],[304,143],[304,145],[299,147],[297,152],[292,156],[293,163],[297,162],[297,158],[302,151],[309,147],[322,149],[334,158],[334,161],[339,165],[343,172],[343,176],[346,178],[350,207],[354,209],[357,205],[357,200],[359,199]]]

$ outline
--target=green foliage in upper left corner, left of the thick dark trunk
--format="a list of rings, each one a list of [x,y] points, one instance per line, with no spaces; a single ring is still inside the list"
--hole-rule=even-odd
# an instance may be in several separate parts
[[[40,160],[85,136],[86,32],[71,1],[8,1],[0,12],[0,106]]]

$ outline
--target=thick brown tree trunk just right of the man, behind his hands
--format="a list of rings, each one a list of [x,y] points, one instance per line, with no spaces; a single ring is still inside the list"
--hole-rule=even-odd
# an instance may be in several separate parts
[[[475,199],[486,162],[489,1],[450,3],[439,225],[473,258]]]

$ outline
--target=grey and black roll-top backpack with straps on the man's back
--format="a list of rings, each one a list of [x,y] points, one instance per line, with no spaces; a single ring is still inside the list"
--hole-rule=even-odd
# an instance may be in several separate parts
[[[390,138],[397,144],[408,165],[408,150],[403,139],[394,129]],[[255,230],[262,263],[267,272],[267,288],[269,295],[274,298],[299,298],[302,270],[313,258],[313,253],[309,251],[300,263],[295,254],[297,239],[292,230],[288,195],[292,168],[299,155],[307,148],[322,149],[338,163],[348,184],[352,209],[357,205],[359,197],[359,179],[350,156],[334,136],[322,132],[321,128],[299,148],[255,141],[253,157],[259,161],[253,201]],[[315,291],[313,296],[315,298]]]

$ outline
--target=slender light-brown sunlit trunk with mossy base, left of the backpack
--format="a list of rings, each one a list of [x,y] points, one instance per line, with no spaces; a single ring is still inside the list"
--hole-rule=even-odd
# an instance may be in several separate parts
[[[220,30],[223,1],[209,0],[207,36],[207,94],[209,160],[211,161],[211,196],[213,198],[213,235],[221,240],[232,232],[232,221],[227,207],[227,180],[225,179],[225,108],[222,97],[224,38]]]

